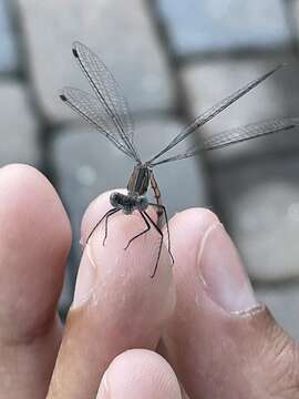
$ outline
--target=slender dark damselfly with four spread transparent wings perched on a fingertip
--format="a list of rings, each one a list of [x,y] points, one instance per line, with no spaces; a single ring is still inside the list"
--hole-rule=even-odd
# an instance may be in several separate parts
[[[163,245],[162,224],[165,217],[167,227],[167,244],[171,253],[171,238],[168,229],[167,212],[163,205],[161,192],[156,180],[154,177],[153,168],[164,163],[169,163],[178,160],[184,160],[196,155],[203,151],[212,151],[240,143],[254,137],[262,136],[288,129],[292,129],[299,124],[299,117],[285,117],[271,121],[264,121],[259,123],[248,124],[246,126],[236,127],[229,131],[216,133],[208,139],[202,139],[198,145],[194,145],[184,153],[165,156],[165,154],[175,145],[181,143],[187,136],[197,132],[199,127],[205,125],[208,121],[223,112],[235,101],[256,88],[267,78],[272,75],[281,65],[265,73],[256,80],[247,83],[244,88],[237,90],[233,94],[221,100],[216,105],[212,106],[203,114],[197,116],[188,126],[183,129],[165,147],[163,147],[151,160],[143,162],[134,144],[133,121],[128,112],[128,106],[125,98],[122,95],[118,84],[107,70],[104,63],[95,55],[86,45],[75,42],[73,44],[73,55],[78,60],[81,69],[86,75],[94,94],[86,93],[79,89],[64,88],[60,98],[83,119],[95,126],[99,132],[104,134],[120,151],[135,161],[134,170],[131,174],[127,184],[127,194],[114,192],[111,194],[110,202],[112,208],[95,224],[89,234],[87,241],[96,229],[96,227],[105,219],[105,235],[103,244],[107,237],[107,221],[109,218],[122,211],[125,214],[138,212],[144,221],[145,228],[132,237],[126,247],[127,248],[134,239],[141,237],[153,226],[159,234],[159,246],[155,266],[151,277],[155,276],[161,250]],[[152,187],[155,203],[148,202],[146,192]],[[147,207],[152,205],[156,209],[157,218],[154,221],[148,214]]]

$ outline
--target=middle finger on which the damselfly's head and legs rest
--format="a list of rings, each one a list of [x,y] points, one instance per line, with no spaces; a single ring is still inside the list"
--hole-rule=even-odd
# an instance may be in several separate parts
[[[109,193],[87,209],[83,242],[111,208]],[[125,250],[145,226],[138,214],[113,215],[90,238],[80,265],[49,398],[94,398],[112,359],[130,348],[155,349],[174,309],[175,290],[168,253],[163,247],[154,278],[159,236],[151,228]]]

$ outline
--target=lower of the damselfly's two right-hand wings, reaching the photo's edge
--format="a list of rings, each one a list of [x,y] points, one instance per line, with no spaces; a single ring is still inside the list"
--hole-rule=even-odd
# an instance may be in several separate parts
[[[285,117],[259,123],[248,124],[246,126],[227,130],[202,140],[199,145],[195,145],[187,150],[184,154],[171,156],[168,158],[155,162],[152,166],[161,165],[167,162],[184,160],[196,155],[203,151],[212,151],[223,149],[225,146],[245,142],[266,134],[277,133],[280,131],[293,129],[299,125],[299,117]]]

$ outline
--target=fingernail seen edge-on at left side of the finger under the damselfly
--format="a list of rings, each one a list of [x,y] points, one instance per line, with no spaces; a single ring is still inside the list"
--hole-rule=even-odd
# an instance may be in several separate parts
[[[86,244],[76,277],[74,298],[72,308],[76,308],[85,304],[93,293],[96,266],[91,256],[91,246]]]

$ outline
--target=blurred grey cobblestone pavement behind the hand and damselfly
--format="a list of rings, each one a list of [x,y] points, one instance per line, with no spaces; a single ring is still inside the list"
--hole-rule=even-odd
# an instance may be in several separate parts
[[[58,99],[63,85],[86,86],[71,55],[74,40],[101,54],[114,72],[145,155],[203,110],[281,61],[288,66],[206,131],[299,115],[299,1],[218,4],[0,0],[0,160],[42,170],[68,208],[74,244],[62,313],[72,298],[82,214],[102,191],[124,186],[132,167]],[[208,206],[220,215],[258,296],[297,338],[298,154],[298,132],[288,132],[161,167],[157,174],[171,214]],[[178,181],[184,190],[177,191]]]

